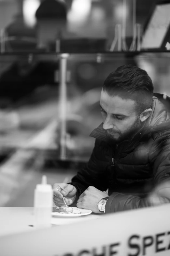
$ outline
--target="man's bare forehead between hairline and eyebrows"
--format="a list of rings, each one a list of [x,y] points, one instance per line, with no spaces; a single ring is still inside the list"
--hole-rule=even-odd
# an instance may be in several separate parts
[[[133,99],[125,99],[121,98],[119,95],[115,94],[110,96],[107,92],[102,90],[101,98],[100,98],[100,105],[104,110],[113,112],[124,113],[126,115],[130,115],[135,111],[136,102]]]

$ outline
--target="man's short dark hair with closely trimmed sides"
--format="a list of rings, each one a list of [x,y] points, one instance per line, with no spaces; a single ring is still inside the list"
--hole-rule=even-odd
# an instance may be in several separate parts
[[[118,95],[124,99],[136,101],[136,112],[140,113],[151,107],[153,83],[148,73],[133,65],[123,65],[106,78],[103,91],[110,96]]]

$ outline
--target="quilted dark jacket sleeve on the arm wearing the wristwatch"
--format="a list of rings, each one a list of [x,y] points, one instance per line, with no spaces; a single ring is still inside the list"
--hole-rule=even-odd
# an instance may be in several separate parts
[[[170,135],[157,136],[148,158],[154,175],[154,191],[146,198],[112,193],[106,203],[106,213],[170,203]]]

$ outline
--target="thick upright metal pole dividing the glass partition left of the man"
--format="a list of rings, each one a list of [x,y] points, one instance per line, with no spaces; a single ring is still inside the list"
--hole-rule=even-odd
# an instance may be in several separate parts
[[[66,159],[66,118],[67,118],[67,58],[68,54],[60,55],[60,90],[59,90],[59,114],[60,114],[60,158]]]

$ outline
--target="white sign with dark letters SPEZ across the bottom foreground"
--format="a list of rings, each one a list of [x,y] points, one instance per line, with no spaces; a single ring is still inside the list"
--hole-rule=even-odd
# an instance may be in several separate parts
[[[170,204],[0,237],[2,256],[169,256]]]

